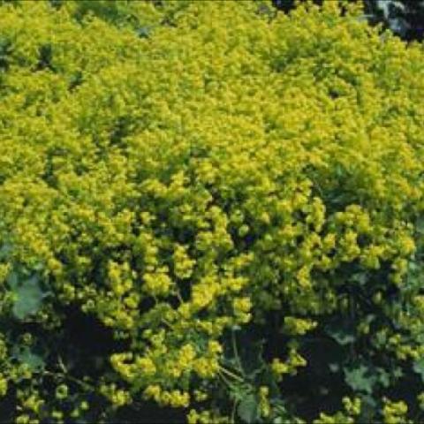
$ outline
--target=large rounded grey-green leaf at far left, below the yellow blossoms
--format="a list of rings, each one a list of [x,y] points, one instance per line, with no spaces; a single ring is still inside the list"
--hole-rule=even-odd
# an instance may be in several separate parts
[[[42,299],[46,293],[42,292],[38,277],[32,276],[18,287],[12,287],[16,294],[16,300],[12,312],[19,320],[25,320],[27,316],[38,312],[42,307]]]

